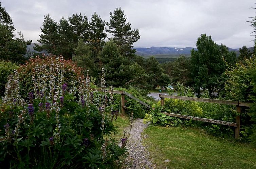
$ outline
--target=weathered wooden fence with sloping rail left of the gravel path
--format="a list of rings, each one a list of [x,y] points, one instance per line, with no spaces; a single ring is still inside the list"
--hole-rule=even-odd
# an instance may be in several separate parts
[[[96,89],[96,88],[91,88],[93,91],[102,91],[102,89]],[[107,90],[108,93],[111,92],[111,90]],[[125,96],[128,96],[132,98],[133,100],[138,101],[140,104],[146,106],[147,108],[151,108],[150,105],[146,104],[145,102],[141,101],[140,99],[134,97],[130,93],[126,91],[120,91],[120,90],[113,90],[113,94],[121,94],[121,113],[124,115],[125,114],[125,109],[128,110],[128,108],[125,106]]]

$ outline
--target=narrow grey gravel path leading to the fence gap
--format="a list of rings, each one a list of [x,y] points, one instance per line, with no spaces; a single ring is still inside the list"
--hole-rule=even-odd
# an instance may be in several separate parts
[[[143,119],[140,118],[135,119],[133,122],[131,134],[126,145],[129,152],[126,161],[127,169],[156,168],[148,158],[149,152],[146,147],[142,145],[141,133],[147,126],[147,124],[143,123]]]

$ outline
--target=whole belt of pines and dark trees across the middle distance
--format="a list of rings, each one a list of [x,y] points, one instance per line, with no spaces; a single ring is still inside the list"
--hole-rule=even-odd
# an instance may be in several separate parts
[[[1,59],[24,63],[28,59],[26,45],[31,41],[25,41],[20,32],[20,37],[14,38],[11,16],[1,4],[0,13]],[[47,14],[38,39],[42,45],[36,44],[35,50],[74,60],[78,66],[89,70],[96,83],[104,67],[108,86],[153,89],[183,83],[193,87],[199,95],[200,89],[210,93],[223,91],[227,80],[225,71],[237,62],[244,63],[244,59],[250,59],[253,54],[244,45],[236,56],[224,44],[216,44],[211,35],[202,34],[196,41],[198,50],[191,50],[190,58],[180,56],[175,61],[160,64],[153,56],[146,59],[135,55],[133,43],[140,39],[139,29],[132,29],[121,8],[110,12],[109,19],[109,22],[104,21],[96,12],[89,19],[85,14],[76,13],[56,22]],[[251,23],[253,26],[254,22]]]

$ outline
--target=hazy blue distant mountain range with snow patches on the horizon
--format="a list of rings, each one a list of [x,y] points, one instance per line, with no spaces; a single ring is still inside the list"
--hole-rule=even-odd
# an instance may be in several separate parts
[[[31,45],[27,45],[27,51],[36,52],[36,53],[44,53],[44,52],[37,52],[34,50],[35,44],[41,45],[41,43],[31,43]],[[190,51],[193,49],[191,47],[186,48],[169,48],[169,47],[150,47],[150,48],[134,48],[136,49],[136,54],[144,57],[149,56],[158,56],[158,57],[172,57],[172,56],[179,56],[179,55],[186,55],[189,57]],[[239,55],[238,49],[232,49],[228,48],[229,51],[236,52],[237,55]],[[249,50],[253,51],[254,47],[248,48]],[[197,50],[195,48],[195,50]]]

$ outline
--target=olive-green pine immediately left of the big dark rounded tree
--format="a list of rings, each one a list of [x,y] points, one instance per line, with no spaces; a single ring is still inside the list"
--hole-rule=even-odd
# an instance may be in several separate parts
[[[190,58],[185,58],[181,55],[177,60],[173,62],[167,62],[162,64],[165,73],[169,75],[171,82],[183,83],[188,85],[191,83],[190,79]]]

